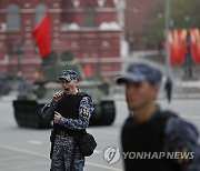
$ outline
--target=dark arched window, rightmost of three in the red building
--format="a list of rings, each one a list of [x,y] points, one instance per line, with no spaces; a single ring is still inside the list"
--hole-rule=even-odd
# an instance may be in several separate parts
[[[92,28],[94,26],[94,8],[88,3],[83,8],[83,27]]]

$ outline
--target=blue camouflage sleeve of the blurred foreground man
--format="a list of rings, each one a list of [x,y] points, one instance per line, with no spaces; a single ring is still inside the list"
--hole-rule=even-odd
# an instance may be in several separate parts
[[[181,118],[170,118],[166,124],[164,151],[193,152],[192,160],[177,160],[182,171],[200,170],[200,143],[197,129]]]

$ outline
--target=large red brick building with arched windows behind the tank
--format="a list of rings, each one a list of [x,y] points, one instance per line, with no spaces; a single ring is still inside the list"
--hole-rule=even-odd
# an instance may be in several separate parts
[[[72,52],[100,78],[120,71],[120,34],[116,0],[7,0],[0,1],[0,72],[21,71],[31,81],[41,59],[31,31],[50,14],[51,49]],[[117,61],[117,62],[113,62]]]

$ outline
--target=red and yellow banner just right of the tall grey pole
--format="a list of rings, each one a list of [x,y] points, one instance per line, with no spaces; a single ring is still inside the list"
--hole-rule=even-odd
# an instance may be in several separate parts
[[[182,64],[188,48],[187,30],[186,29],[170,30],[169,41],[170,41],[170,62],[172,64]]]

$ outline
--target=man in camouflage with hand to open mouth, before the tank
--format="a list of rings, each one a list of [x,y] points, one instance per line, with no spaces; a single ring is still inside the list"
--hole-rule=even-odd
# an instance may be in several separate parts
[[[78,147],[73,149],[74,135],[89,125],[94,108],[91,98],[77,89],[77,77],[76,71],[64,70],[59,78],[64,91],[56,92],[52,101],[41,110],[44,119],[53,120],[51,171],[82,171],[84,167],[84,157]]]

